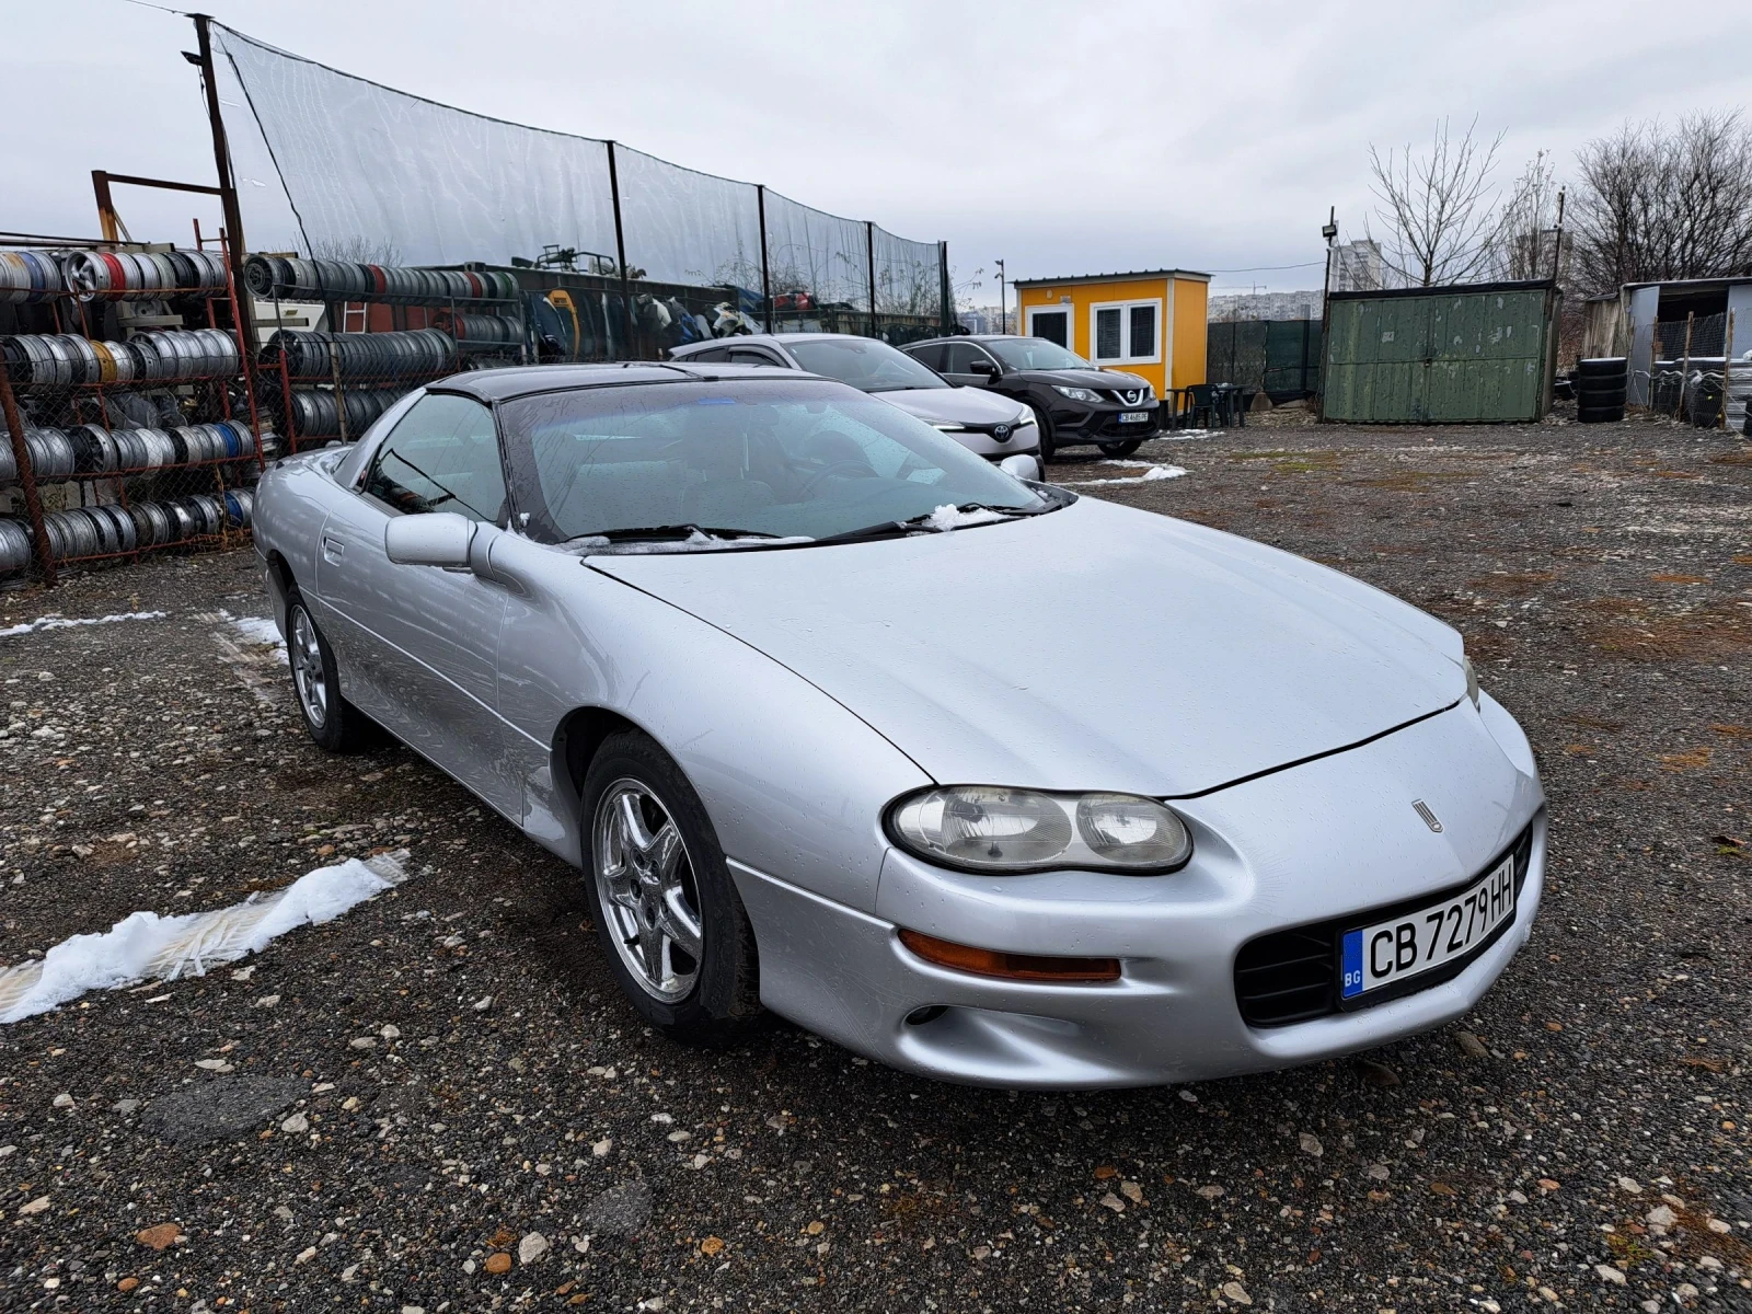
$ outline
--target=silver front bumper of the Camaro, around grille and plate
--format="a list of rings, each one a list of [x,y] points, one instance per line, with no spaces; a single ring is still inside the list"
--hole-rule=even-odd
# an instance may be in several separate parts
[[[1503,743],[1508,739],[1508,743]],[[1435,834],[1412,801],[1440,818]],[[971,876],[899,850],[858,911],[732,860],[776,1013],[892,1067],[1014,1088],[1139,1086],[1368,1049],[1466,1013],[1526,943],[1545,876],[1544,795],[1519,727],[1487,703],[1202,799],[1176,802],[1195,858],[1170,876]],[[1310,825],[1319,825],[1310,832]],[[1274,930],[1437,895],[1531,827],[1514,922],[1451,979],[1349,1013],[1249,1027],[1240,948]],[[899,930],[1035,955],[1116,957],[1099,985],[971,976]]]

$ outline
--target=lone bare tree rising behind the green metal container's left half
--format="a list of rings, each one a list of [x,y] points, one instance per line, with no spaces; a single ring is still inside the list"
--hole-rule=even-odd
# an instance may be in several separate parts
[[[1489,268],[1496,235],[1489,184],[1503,133],[1484,145],[1473,137],[1477,126],[1473,119],[1454,142],[1442,119],[1428,154],[1417,159],[1410,145],[1403,154],[1388,151],[1386,159],[1368,147],[1370,191],[1381,201],[1375,217],[1386,230],[1382,254],[1407,284],[1465,282]]]

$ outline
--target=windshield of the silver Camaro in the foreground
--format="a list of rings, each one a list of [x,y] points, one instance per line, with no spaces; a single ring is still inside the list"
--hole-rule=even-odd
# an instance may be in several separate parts
[[[825,380],[540,392],[503,403],[499,419],[524,531],[585,550],[608,547],[601,538],[638,550],[641,538],[687,548],[902,533],[909,520],[955,529],[1063,505]]]

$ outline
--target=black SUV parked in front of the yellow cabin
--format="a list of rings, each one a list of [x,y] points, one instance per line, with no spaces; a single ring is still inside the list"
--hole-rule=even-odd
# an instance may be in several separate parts
[[[986,387],[1034,410],[1041,457],[1060,447],[1093,443],[1107,456],[1132,456],[1162,431],[1149,384],[1118,370],[1097,370],[1046,338],[978,333],[913,342],[902,349],[951,384]]]

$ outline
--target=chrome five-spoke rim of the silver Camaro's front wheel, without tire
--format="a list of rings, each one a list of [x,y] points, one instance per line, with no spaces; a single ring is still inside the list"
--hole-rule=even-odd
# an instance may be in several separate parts
[[[704,930],[687,843],[655,794],[622,776],[596,804],[596,888],[632,979],[676,1004],[699,979]]]

